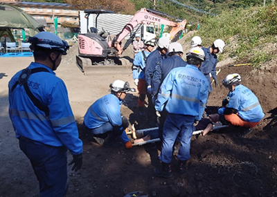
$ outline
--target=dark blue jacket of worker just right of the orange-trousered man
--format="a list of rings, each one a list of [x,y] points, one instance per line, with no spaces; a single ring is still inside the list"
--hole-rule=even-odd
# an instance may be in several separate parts
[[[166,59],[166,55],[161,55],[158,49],[148,55],[145,66],[145,80],[148,86],[151,86],[154,69],[161,59]]]

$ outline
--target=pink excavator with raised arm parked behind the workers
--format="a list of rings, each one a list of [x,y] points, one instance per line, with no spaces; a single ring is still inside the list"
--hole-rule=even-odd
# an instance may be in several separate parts
[[[186,27],[186,20],[180,19],[170,21],[163,16],[168,16],[157,10],[148,10],[141,8],[134,17],[126,24],[118,35],[111,37],[108,32],[97,30],[97,17],[103,13],[114,13],[109,10],[84,10],[87,17],[87,24],[89,24],[89,15],[96,14],[96,28],[90,28],[89,33],[78,35],[78,50],[79,54],[76,55],[76,63],[80,70],[85,73],[86,67],[93,65],[114,66],[114,65],[129,65],[132,64],[128,59],[122,57],[123,51],[129,46],[134,38],[136,32],[134,28],[142,24],[164,24],[171,26],[170,37],[172,41],[179,39],[181,32]],[[87,28],[88,25],[87,25]],[[125,43],[123,47],[123,39],[129,35],[130,39]]]

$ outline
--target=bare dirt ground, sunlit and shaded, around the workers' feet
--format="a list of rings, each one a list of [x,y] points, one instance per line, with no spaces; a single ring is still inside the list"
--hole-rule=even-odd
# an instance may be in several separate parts
[[[15,72],[28,66],[32,57],[1,58],[0,72],[0,196],[38,196],[38,184],[30,162],[19,150],[12,124],[8,118],[8,81]],[[220,81],[229,73],[242,75],[242,84],[259,97],[266,113],[261,124],[247,138],[240,129],[229,128],[193,136],[191,159],[186,172],[175,170],[172,178],[156,178],[161,144],[146,144],[132,149],[107,149],[94,142],[82,129],[82,117],[99,97],[109,93],[115,79],[133,84],[131,68],[84,76],[72,62],[64,62],[57,76],[66,83],[69,99],[84,142],[84,163],[77,173],[69,169],[67,196],[125,196],[142,191],[148,196],[277,196],[277,134],[276,134],[276,59],[253,71],[251,66],[222,66]],[[227,90],[214,88],[208,112],[217,111]],[[147,105],[145,106],[147,107]],[[145,118],[138,116],[137,93],[127,94],[122,113],[137,129],[148,128]],[[69,154],[69,161],[71,156]]]

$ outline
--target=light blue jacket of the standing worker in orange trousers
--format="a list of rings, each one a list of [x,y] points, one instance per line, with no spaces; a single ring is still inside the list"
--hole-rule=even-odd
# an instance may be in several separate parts
[[[133,79],[143,79],[145,80],[145,58],[143,56],[143,53],[145,54],[145,57],[148,57],[148,55],[150,55],[150,52],[147,52],[145,50],[136,53],[136,55],[134,55],[134,61],[133,64],[134,66],[137,67],[136,70],[133,70]]]

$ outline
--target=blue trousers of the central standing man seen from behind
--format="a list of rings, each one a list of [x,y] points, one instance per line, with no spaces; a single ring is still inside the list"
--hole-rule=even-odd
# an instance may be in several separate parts
[[[171,162],[172,148],[178,135],[181,142],[178,159],[184,161],[190,158],[190,139],[193,135],[194,120],[195,116],[168,113],[163,125],[163,147],[160,155],[162,162]]]

